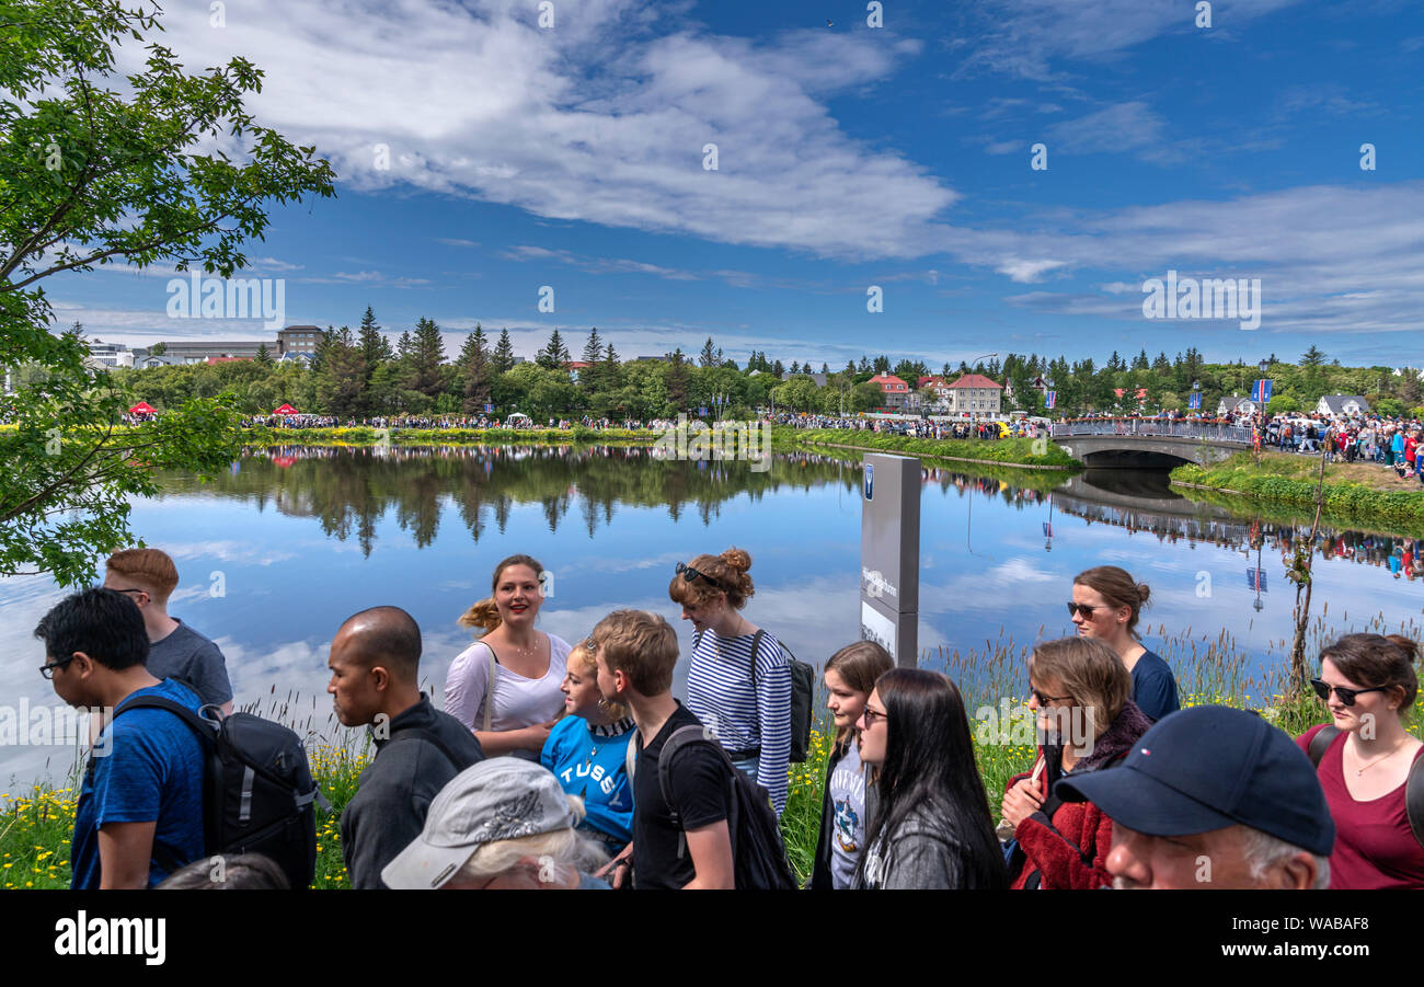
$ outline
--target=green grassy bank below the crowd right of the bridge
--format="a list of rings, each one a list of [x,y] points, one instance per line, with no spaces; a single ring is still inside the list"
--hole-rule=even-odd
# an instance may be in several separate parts
[[[1237,504],[1313,511],[1319,470],[1314,456],[1266,453],[1256,463],[1250,453],[1236,453],[1215,466],[1179,466],[1172,483],[1205,487]],[[1190,487],[1183,493],[1190,496]],[[1326,466],[1324,511],[1334,524],[1424,531],[1424,487],[1373,463],[1336,463]]]

